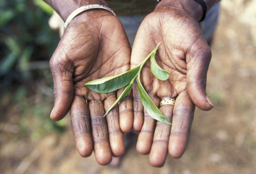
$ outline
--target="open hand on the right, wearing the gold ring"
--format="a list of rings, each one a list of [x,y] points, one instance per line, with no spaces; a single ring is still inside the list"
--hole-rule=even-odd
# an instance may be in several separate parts
[[[140,132],[136,148],[140,154],[150,154],[152,166],[163,166],[167,152],[174,158],[182,156],[188,143],[195,105],[205,111],[212,108],[205,93],[211,50],[196,20],[179,6],[156,8],[138,29],[131,66],[138,65],[159,42],[157,63],[170,73],[170,77],[167,81],[159,81],[147,62],[141,71],[141,82],[156,106],[163,97],[176,98],[175,106],[160,107],[172,125],[156,123],[148,116],[143,111],[138,87],[134,85],[133,88],[133,129]]]

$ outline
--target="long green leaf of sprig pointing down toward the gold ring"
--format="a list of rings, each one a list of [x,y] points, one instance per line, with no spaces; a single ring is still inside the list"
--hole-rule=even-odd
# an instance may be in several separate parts
[[[138,90],[140,93],[140,98],[143,106],[145,107],[148,115],[152,116],[152,118],[156,119],[159,122],[164,122],[168,124],[172,124],[167,120],[167,118],[161,113],[161,111],[156,107],[154,102],[150,99],[147,92],[143,88],[140,82],[140,74],[137,77]]]

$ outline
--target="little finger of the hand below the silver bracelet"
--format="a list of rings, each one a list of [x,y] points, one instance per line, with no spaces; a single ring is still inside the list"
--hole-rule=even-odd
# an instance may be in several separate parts
[[[124,91],[118,90],[117,97],[121,95]],[[131,93],[120,101],[119,106],[119,118],[120,118],[120,128],[123,132],[129,132],[132,129],[133,125],[133,106],[132,106],[132,97]]]

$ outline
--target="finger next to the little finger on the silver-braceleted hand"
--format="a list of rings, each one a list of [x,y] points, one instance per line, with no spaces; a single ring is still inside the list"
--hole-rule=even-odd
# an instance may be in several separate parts
[[[106,97],[106,100],[104,100],[104,107],[106,111],[108,111],[109,107],[112,106],[115,100],[115,93],[110,93]],[[115,157],[120,157],[121,155],[124,155],[125,146],[124,133],[121,132],[119,126],[118,106],[113,107],[113,109],[109,111],[106,117],[108,122],[109,143],[112,150],[112,154]]]

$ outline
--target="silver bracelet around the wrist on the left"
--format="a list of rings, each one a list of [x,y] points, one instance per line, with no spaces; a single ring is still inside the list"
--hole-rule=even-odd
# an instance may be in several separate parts
[[[70,22],[72,19],[74,19],[74,17],[76,17],[77,15],[79,15],[79,13],[82,13],[82,12],[84,12],[84,11],[86,11],[86,10],[99,9],[99,8],[100,8],[100,9],[104,9],[104,10],[108,10],[108,12],[111,12],[111,13],[113,13],[113,15],[116,15],[116,14],[113,12],[113,10],[111,10],[111,8],[109,8],[108,6],[104,6],[104,5],[100,5],[100,4],[90,4],[90,5],[81,6],[81,7],[77,8],[77,10],[75,10],[74,12],[72,12],[72,13],[68,16],[68,18],[67,18],[67,20],[66,20],[66,22],[65,22],[65,24],[64,24],[64,31],[65,31],[65,29],[67,28],[69,22]]]

